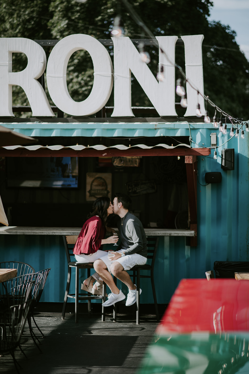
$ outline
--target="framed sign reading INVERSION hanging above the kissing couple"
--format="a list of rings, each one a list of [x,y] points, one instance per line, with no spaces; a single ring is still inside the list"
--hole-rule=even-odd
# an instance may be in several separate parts
[[[86,173],[86,201],[101,196],[111,199],[111,173]]]

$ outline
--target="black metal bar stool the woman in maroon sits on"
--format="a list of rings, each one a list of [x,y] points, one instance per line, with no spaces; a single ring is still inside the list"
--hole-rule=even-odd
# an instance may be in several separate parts
[[[68,275],[67,275],[67,286],[65,291],[64,303],[62,308],[61,319],[65,318],[65,311],[67,306],[67,299],[68,297],[75,299],[75,323],[79,321],[79,300],[87,300],[88,301],[88,315],[91,315],[91,300],[93,299],[101,299],[105,301],[105,294],[106,294],[106,284],[103,283],[103,295],[92,295],[89,294],[79,294],[79,269],[87,269],[87,278],[90,276],[90,269],[93,269],[93,263],[82,264],[77,261],[71,261],[71,258],[74,258],[73,254],[73,246],[76,243],[78,235],[65,235],[63,237],[63,242],[65,246],[65,252],[67,256],[67,263],[68,263]],[[71,282],[71,269],[75,269],[75,293],[69,294],[69,287]],[[105,308],[102,307],[102,321],[105,320]]]

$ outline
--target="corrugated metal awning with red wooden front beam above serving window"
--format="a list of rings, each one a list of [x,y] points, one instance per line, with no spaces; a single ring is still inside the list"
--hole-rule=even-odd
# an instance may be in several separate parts
[[[100,157],[100,156],[208,156],[210,148],[191,148],[188,144],[178,144],[170,146],[167,144],[157,144],[148,146],[145,144],[136,144],[127,147],[124,144],[106,147],[105,145],[43,145],[30,146],[8,146],[0,147],[0,156],[9,157]]]

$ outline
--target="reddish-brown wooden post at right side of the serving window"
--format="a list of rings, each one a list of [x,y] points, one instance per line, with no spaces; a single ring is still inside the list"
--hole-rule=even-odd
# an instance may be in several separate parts
[[[191,237],[190,246],[197,246],[197,158],[196,156],[185,156],[188,184],[188,204],[190,212],[190,230],[196,235]]]

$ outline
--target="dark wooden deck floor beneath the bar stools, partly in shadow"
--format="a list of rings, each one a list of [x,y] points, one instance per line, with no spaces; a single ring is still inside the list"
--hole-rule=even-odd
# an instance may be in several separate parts
[[[64,321],[59,313],[39,313],[36,321],[46,336],[40,339],[42,353],[25,327],[21,347],[28,360],[19,349],[15,353],[21,374],[136,373],[158,324],[155,316],[142,316],[136,325],[127,315],[119,315],[117,322],[110,315],[101,322],[100,315],[88,318],[83,314],[75,324],[71,313]],[[10,355],[0,357],[0,373],[16,373]]]

